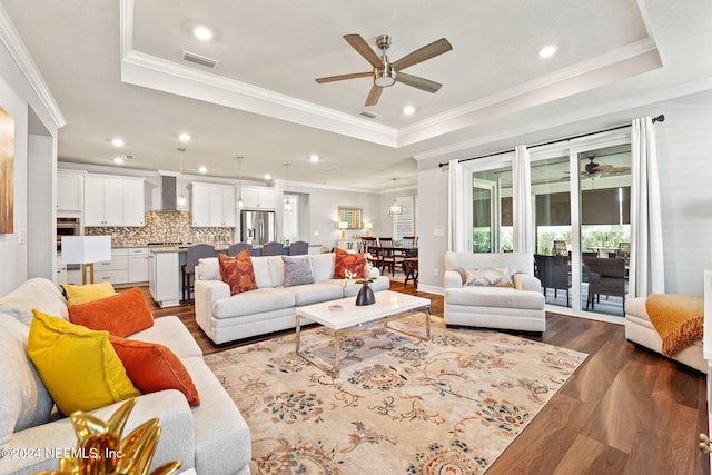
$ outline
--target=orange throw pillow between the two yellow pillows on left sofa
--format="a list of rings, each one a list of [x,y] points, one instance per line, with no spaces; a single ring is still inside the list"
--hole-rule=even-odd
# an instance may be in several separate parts
[[[154,326],[154,315],[140,288],[69,307],[69,321],[115,336],[129,336]]]

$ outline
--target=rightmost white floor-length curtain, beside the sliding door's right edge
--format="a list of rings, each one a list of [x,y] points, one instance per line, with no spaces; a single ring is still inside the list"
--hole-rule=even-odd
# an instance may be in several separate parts
[[[631,130],[631,261],[629,297],[665,293],[660,182],[655,132],[650,117]]]

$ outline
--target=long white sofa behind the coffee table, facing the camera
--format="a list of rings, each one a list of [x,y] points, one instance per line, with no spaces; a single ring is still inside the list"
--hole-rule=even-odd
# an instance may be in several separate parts
[[[220,278],[217,258],[200,259],[196,267],[196,321],[216,344],[295,327],[295,308],[352,297],[360,284],[334,278],[335,254],[305,256],[312,261],[314,284],[285,287],[281,256],[251,257],[257,289],[230,296]],[[390,280],[369,268],[374,291],[387,290]],[[378,297],[376,297],[378,298]]]

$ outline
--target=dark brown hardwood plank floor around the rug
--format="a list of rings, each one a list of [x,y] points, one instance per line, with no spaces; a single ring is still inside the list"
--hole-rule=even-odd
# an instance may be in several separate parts
[[[396,281],[392,290],[431,298],[432,314],[443,315],[442,296]],[[144,294],[156,317],[177,315],[205,354],[257,340],[216,346],[191,305],[161,309]],[[523,336],[589,357],[487,475],[710,474],[696,448],[708,433],[704,375],[627,343],[621,325],[547,314],[544,335]]]

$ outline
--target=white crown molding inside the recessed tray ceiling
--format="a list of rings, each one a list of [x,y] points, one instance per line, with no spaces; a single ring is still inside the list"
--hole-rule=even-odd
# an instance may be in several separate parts
[[[398,129],[137,51],[132,42],[135,1],[120,1],[122,81],[396,149],[662,66],[656,43],[649,36]]]

